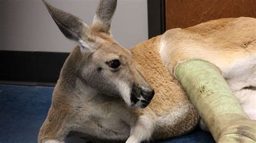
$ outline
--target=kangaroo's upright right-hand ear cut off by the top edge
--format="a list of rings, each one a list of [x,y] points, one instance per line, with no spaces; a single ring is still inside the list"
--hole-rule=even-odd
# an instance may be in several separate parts
[[[117,0],[100,0],[92,26],[99,28],[100,31],[109,32],[116,7]]]

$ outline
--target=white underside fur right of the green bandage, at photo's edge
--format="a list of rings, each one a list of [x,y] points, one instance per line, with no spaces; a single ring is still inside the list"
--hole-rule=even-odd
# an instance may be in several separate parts
[[[238,59],[228,68],[224,78],[247,115],[256,120],[256,55]]]

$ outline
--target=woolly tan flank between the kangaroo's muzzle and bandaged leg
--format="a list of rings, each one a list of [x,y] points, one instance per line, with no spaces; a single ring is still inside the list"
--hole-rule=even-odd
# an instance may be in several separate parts
[[[198,116],[179,82],[170,75],[161,61],[158,49],[160,36],[133,47],[131,52],[140,72],[156,91],[145,109],[156,116],[153,139],[175,137],[191,131]],[[177,115],[176,113],[181,113]],[[161,118],[165,118],[161,120]]]

